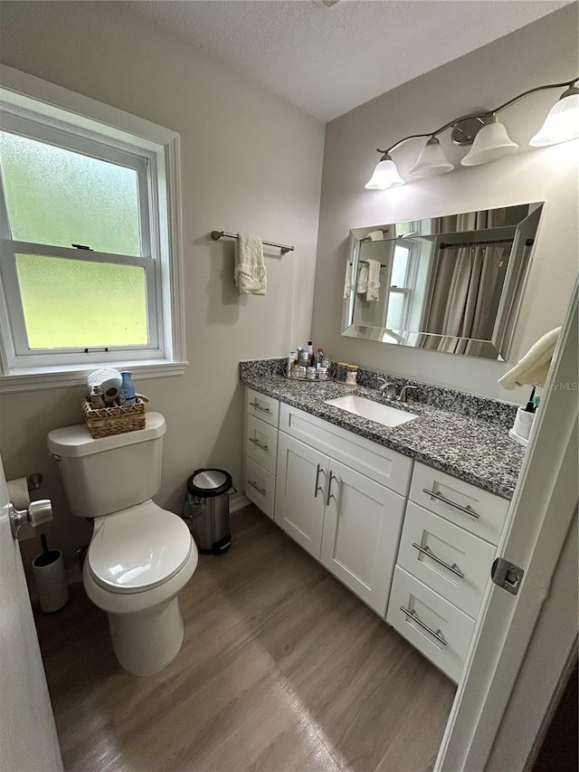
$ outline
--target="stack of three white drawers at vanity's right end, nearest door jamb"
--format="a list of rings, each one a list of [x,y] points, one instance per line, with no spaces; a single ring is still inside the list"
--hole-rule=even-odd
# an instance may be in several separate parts
[[[386,621],[460,679],[508,500],[415,463]]]

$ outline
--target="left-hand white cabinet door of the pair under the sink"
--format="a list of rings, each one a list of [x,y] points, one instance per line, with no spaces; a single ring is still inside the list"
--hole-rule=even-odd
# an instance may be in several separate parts
[[[319,560],[327,456],[280,432],[275,521]]]

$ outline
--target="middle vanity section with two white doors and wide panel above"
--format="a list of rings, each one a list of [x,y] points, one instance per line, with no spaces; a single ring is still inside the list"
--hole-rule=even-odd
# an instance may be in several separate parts
[[[384,481],[405,492],[411,469],[399,453],[280,405],[275,521],[381,616],[405,504]]]

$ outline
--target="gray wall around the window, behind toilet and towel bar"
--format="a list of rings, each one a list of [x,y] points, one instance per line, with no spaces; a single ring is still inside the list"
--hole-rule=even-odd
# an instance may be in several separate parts
[[[308,339],[324,144],[321,122],[220,62],[109,3],[1,3],[2,60],[16,69],[154,121],[181,135],[187,358],[185,376],[139,380],[166,415],[157,502],[178,511],[184,481],[209,464],[241,485],[242,358],[281,356]],[[233,242],[213,229],[295,244],[266,257],[268,294],[240,298]],[[54,546],[71,550],[90,527],[66,506],[46,434],[82,420],[81,389],[1,397],[8,479],[43,472]],[[103,481],[106,484],[106,481]],[[24,562],[38,542],[23,542]]]

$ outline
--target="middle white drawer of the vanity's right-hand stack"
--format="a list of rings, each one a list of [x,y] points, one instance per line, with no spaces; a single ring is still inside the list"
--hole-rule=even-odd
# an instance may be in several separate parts
[[[487,541],[408,502],[398,564],[474,619],[495,552]]]

